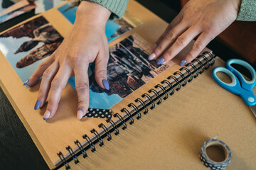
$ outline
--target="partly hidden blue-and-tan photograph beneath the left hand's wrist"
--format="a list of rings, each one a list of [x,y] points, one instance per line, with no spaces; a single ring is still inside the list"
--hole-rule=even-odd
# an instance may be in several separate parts
[[[80,4],[79,0],[71,1],[68,4],[60,6],[58,11],[65,16],[65,18],[70,21],[70,23],[75,23],[75,14],[78,9],[78,5]],[[122,19],[116,21],[107,21],[106,24],[106,35],[107,41],[111,42],[112,40],[118,38],[120,35],[127,33],[127,31],[132,30],[132,28],[136,28],[142,23],[134,18],[130,13],[125,12]]]

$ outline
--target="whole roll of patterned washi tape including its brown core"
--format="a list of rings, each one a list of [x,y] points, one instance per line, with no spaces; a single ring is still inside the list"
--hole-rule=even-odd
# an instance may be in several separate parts
[[[232,154],[228,145],[214,137],[203,143],[199,156],[208,169],[219,170],[228,166]]]

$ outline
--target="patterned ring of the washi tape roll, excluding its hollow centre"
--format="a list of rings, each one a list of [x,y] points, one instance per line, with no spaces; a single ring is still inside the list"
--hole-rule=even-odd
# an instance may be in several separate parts
[[[223,162],[215,162],[212,159],[210,159],[206,154],[206,148],[214,145],[222,146],[225,149],[225,160],[223,160]],[[208,169],[219,170],[219,169],[225,169],[225,167],[228,166],[232,157],[232,153],[228,145],[226,145],[224,142],[220,140],[217,140],[216,138],[213,138],[203,143],[199,157],[201,159],[201,162]]]

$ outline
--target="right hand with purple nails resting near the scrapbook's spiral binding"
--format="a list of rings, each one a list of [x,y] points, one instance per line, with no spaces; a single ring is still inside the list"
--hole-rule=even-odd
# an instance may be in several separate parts
[[[149,60],[157,64],[169,62],[191,40],[197,38],[180,66],[191,62],[210,40],[213,40],[238,16],[241,0],[191,0],[169,24],[153,46]]]

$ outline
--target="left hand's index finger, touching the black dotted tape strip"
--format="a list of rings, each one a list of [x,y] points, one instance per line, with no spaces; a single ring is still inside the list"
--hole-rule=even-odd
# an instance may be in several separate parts
[[[88,64],[85,64],[82,69],[75,69],[75,89],[78,94],[78,113],[77,118],[80,120],[88,110],[89,106],[89,79],[88,79]]]

